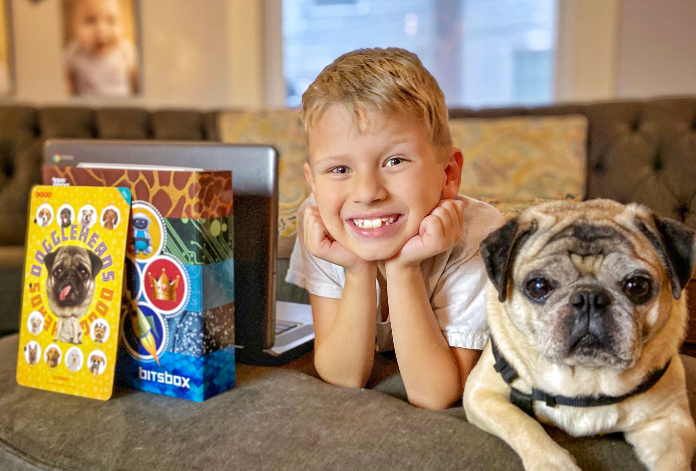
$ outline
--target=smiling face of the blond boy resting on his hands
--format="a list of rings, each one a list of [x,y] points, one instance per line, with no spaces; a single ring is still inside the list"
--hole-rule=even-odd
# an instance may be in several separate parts
[[[446,184],[448,161],[413,120],[372,114],[361,130],[342,106],[331,106],[309,130],[309,151],[305,176],[322,221],[363,260],[395,255],[441,196],[459,189],[459,178],[454,190]]]

